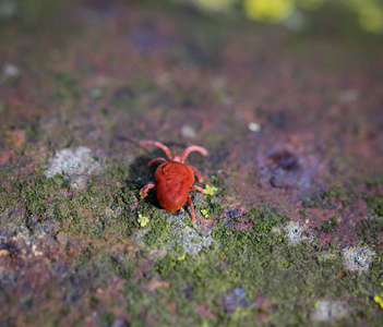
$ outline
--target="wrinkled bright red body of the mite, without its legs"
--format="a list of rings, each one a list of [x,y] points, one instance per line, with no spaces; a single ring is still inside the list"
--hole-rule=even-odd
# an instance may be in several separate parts
[[[157,198],[164,209],[176,211],[187,199],[190,186],[194,183],[193,171],[184,164],[168,161],[160,165],[155,178],[157,180]]]

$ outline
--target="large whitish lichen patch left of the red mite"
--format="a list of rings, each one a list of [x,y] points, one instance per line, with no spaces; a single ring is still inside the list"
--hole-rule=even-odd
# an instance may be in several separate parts
[[[56,153],[50,159],[46,175],[52,178],[57,173],[62,174],[71,182],[74,189],[82,189],[86,185],[88,174],[100,168],[99,161],[92,156],[91,149],[80,146],[65,148]]]

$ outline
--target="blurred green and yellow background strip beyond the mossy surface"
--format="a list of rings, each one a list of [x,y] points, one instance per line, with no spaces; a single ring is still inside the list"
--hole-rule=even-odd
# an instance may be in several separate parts
[[[36,24],[51,15],[52,11],[70,2],[50,0],[0,0],[0,20],[20,20]],[[82,2],[106,5],[110,1],[85,0]],[[113,1],[112,1],[113,2]],[[194,8],[206,14],[236,15],[243,20],[282,24],[294,31],[308,28],[337,29],[346,33],[363,31],[383,32],[383,2],[381,0],[143,0],[137,2],[155,5],[181,5]]]

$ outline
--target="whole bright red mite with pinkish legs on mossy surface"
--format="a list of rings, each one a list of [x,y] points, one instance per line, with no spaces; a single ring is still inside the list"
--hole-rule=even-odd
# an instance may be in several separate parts
[[[157,190],[159,204],[164,209],[169,211],[180,209],[188,201],[190,204],[192,221],[195,221],[194,207],[189,196],[189,191],[196,190],[205,193],[205,190],[199,186],[193,186],[194,173],[199,182],[202,182],[201,173],[194,167],[188,166],[183,162],[191,152],[198,152],[201,155],[206,156],[207,150],[201,146],[192,145],[185,148],[182,156],[175,155],[171,157],[169,148],[159,142],[142,141],[140,142],[140,145],[157,146],[161,148],[168,157],[168,160],[165,158],[155,158],[148,162],[148,166],[159,162],[161,162],[161,165],[157,168],[155,173],[157,183],[148,183],[142,187],[140,191],[141,197],[144,198],[147,191],[155,187]]]

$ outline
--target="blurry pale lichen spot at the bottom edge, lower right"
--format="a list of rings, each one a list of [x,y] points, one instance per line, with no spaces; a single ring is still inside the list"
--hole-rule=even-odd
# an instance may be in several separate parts
[[[315,322],[331,322],[347,316],[349,312],[349,306],[342,301],[319,300],[311,318]]]

